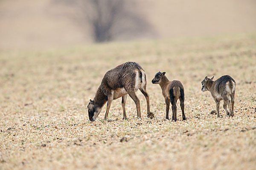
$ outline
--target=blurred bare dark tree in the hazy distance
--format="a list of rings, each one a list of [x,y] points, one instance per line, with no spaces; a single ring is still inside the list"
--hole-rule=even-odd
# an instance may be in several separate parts
[[[150,24],[133,0],[54,0],[72,6],[72,17],[81,27],[91,28],[96,42],[111,41],[120,37],[137,37],[153,33]]]

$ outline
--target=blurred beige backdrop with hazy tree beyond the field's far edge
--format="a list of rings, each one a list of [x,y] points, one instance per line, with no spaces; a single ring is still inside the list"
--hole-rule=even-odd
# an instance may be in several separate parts
[[[254,31],[255,0],[0,0],[0,50]]]

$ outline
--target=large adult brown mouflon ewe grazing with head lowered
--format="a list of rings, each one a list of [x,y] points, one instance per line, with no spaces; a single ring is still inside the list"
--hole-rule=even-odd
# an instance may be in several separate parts
[[[127,119],[125,113],[127,95],[134,100],[137,108],[137,117],[141,118],[140,100],[135,94],[138,89],[140,89],[147,101],[148,117],[154,116],[154,114],[150,112],[149,95],[146,91],[146,85],[145,71],[136,62],[125,62],[111,69],[103,77],[94,99],[90,99],[87,105],[90,121],[96,120],[102,107],[108,102],[104,118],[104,120],[106,120],[112,101],[119,97],[122,97],[123,119]]]

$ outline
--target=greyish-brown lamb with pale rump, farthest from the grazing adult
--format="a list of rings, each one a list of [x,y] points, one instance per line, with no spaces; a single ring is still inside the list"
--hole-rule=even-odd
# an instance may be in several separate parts
[[[234,116],[236,82],[229,75],[222,76],[213,81],[205,77],[202,83],[202,91],[210,91],[216,102],[217,117],[220,117],[220,101],[223,99],[223,108],[228,116]],[[231,102],[230,102],[231,101]],[[228,109],[227,109],[228,106]]]

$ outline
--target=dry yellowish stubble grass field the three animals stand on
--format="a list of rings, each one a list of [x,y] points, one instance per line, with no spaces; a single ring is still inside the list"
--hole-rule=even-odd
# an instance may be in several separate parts
[[[128,97],[90,122],[87,103],[105,72],[140,63],[155,118],[142,119]],[[185,88],[185,114],[165,120],[157,71]],[[236,80],[234,117],[210,114],[215,102],[201,91],[205,76]],[[179,105],[179,102],[178,102]],[[170,111],[170,113],[172,113]],[[122,142],[120,140],[125,137]],[[0,52],[0,170],[16,169],[255,169],[256,34],[81,45],[47,51]]]

